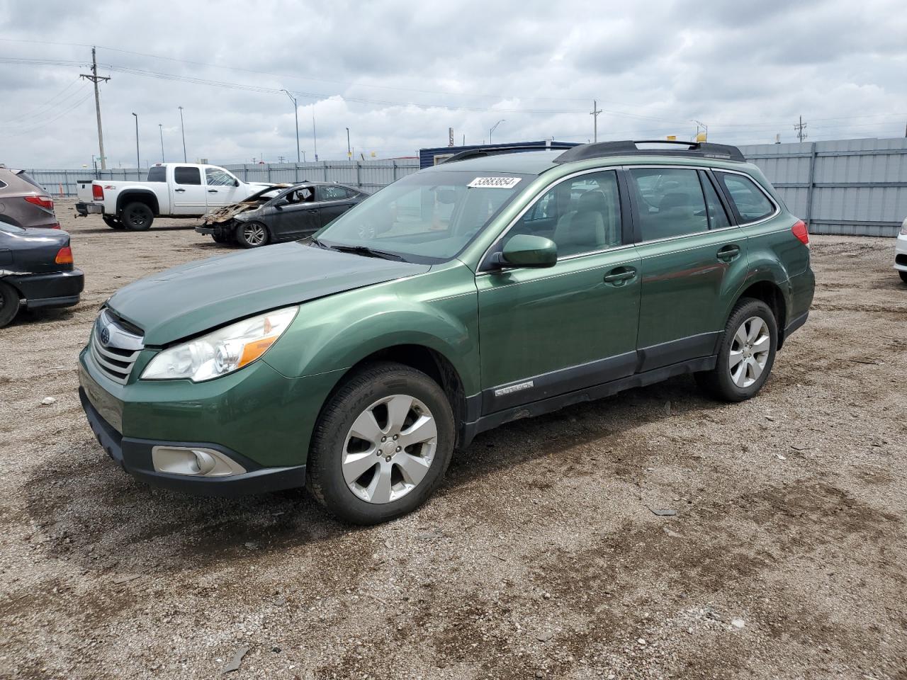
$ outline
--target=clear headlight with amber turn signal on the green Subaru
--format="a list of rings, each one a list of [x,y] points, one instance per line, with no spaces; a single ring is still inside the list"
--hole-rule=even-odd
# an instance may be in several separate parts
[[[156,355],[142,380],[180,380],[200,383],[251,364],[277,341],[296,316],[298,306],[244,319]]]

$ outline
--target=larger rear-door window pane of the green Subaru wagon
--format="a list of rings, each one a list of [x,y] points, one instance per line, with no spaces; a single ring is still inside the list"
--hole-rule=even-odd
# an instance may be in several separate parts
[[[706,201],[697,170],[635,168],[629,174],[637,192],[642,240],[707,231]]]

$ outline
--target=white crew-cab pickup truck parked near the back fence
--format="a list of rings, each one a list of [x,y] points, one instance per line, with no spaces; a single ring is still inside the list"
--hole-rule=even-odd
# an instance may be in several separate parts
[[[268,186],[238,180],[216,165],[158,163],[148,169],[148,180],[143,182],[79,182],[80,201],[75,211],[83,217],[101,215],[110,228],[142,231],[150,228],[156,217],[200,217]]]

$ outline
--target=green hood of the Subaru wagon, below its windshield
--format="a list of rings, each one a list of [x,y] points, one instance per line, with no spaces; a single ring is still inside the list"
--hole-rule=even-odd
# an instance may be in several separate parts
[[[431,267],[282,243],[191,262],[121,288],[107,306],[167,345],[268,309],[422,274]]]

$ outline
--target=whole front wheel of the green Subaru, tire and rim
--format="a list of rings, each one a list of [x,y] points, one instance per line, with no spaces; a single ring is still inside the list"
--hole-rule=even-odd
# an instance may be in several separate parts
[[[418,508],[453,453],[444,390],[403,364],[372,364],[341,384],[312,437],[307,486],[340,520],[376,524]]]

